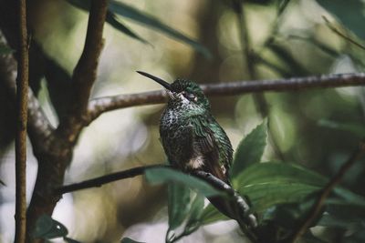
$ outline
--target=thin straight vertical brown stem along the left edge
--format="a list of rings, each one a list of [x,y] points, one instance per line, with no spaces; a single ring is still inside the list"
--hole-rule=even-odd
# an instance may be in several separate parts
[[[16,243],[26,242],[26,122],[29,56],[26,0],[19,1],[18,67],[16,78]]]

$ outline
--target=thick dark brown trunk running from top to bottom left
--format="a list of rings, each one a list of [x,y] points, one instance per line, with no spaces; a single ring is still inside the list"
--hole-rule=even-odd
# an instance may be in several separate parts
[[[84,51],[74,70],[72,103],[69,103],[67,116],[60,117],[57,129],[47,137],[47,150],[35,149],[38,160],[38,173],[32,200],[27,211],[27,240],[39,242],[31,237],[36,227],[36,219],[42,214],[52,215],[59,195],[54,188],[63,184],[66,168],[72,159],[78,135],[85,123],[83,116],[87,110],[91,86],[96,79],[99,55],[102,49],[102,31],[108,0],[91,1],[89,25]],[[32,141],[33,144],[33,141]]]

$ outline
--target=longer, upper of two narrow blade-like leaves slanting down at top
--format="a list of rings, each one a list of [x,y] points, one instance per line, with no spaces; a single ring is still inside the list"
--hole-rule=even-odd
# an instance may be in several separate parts
[[[181,41],[189,46],[192,46],[197,52],[203,54],[203,56],[207,58],[212,58],[212,54],[209,50],[198,42],[194,41],[190,37],[183,35],[172,27],[163,24],[157,18],[148,15],[146,13],[142,13],[140,10],[131,7],[130,5],[125,5],[121,2],[110,1],[110,10],[117,15],[122,15],[124,17],[130,18],[131,20],[141,24],[146,25],[147,27],[151,27],[159,32],[162,32],[165,35],[169,35],[170,37]]]

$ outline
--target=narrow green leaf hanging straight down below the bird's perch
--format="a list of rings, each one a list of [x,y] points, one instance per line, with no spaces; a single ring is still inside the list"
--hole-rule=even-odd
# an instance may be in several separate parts
[[[190,189],[182,184],[168,185],[169,230],[180,227],[190,210]]]

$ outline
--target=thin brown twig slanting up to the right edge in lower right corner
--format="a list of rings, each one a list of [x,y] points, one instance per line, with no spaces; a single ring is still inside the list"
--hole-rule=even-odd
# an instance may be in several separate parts
[[[323,206],[326,203],[326,199],[332,192],[333,188],[339,184],[344,175],[349,171],[349,168],[354,165],[354,163],[363,155],[364,152],[365,152],[365,143],[364,141],[361,141],[360,146],[357,147],[356,150],[351,154],[348,161],[339,168],[338,173],[334,177],[332,177],[332,179],[328,182],[327,186],[323,188],[322,193],[318,197],[313,208],[311,208],[310,212],[308,213],[308,217],[306,218],[306,220],[304,220],[303,224],[297,229],[297,231],[293,234],[293,236],[290,238],[288,242],[295,243],[298,238],[300,238],[304,233],[306,233],[307,229],[310,227],[313,220],[318,218],[320,212],[322,211]]]

